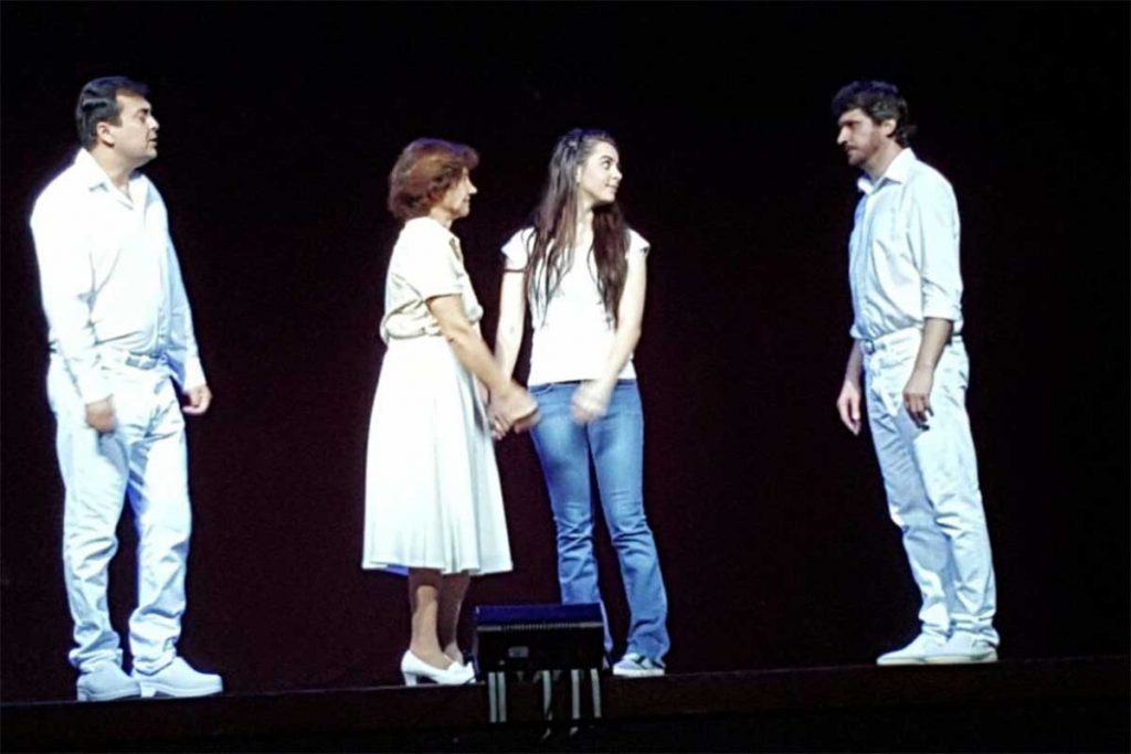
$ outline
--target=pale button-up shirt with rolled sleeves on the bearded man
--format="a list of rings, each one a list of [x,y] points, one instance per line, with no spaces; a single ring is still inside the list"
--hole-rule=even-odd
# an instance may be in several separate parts
[[[872,340],[923,328],[925,318],[962,329],[958,202],[939,171],[904,149],[877,181],[867,175],[848,242],[855,321],[851,335]]]

